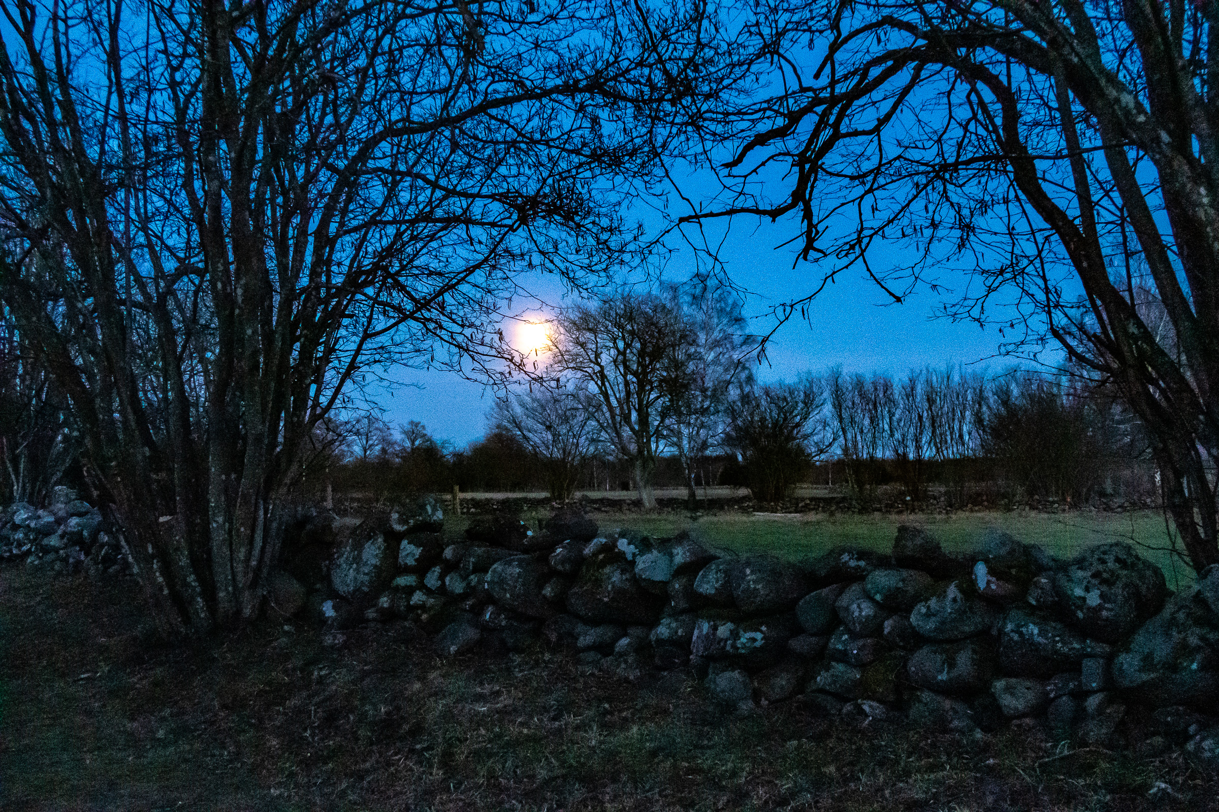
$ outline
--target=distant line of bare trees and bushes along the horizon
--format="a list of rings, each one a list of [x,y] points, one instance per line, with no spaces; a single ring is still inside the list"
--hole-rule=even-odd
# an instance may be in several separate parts
[[[635,488],[644,505],[656,486],[691,503],[708,485],[779,503],[816,482],[865,505],[886,487],[964,505],[979,492],[1080,504],[1152,474],[1129,409],[1070,375],[836,369],[759,383],[742,327],[739,302],[705,285],[573,308],[556,320],[549,376],[501,397],[483,438],[456,449],[368,413],[341,426],[325,481],[373,498]]]

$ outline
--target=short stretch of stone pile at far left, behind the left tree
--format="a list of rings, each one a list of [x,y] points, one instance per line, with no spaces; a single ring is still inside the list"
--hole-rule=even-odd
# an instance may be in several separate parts
[[[51,492],[46,508],[17,502],[0,510],[0,560],[13,559],[61,573],[119,575],[130,570],[101,513],[62,486]]]

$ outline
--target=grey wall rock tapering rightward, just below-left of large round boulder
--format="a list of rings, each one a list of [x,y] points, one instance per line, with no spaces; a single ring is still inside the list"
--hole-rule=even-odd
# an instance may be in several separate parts
[[[1000,663],[1012,677],[1052,677],[1078,666],[1084,657],[1111,654],[1108,645],[1020,609],[1008,611],[998,629]]]

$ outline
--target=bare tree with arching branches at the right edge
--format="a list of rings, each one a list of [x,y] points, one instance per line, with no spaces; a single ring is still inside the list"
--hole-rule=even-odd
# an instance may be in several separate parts
[[[737,196],[690,217],[800,218],[802,256],[826,259],[814,291],[853,267],[902,301],[959,268],[951,313],[1011,349],[1054,342],[1117,387],[1192,565],[1219,562],[1212,6],[778,0],[757,16],[774,91],[698,118]],[[705,150],[725,139],[727,166]],[[909,261],[878,265],[883,242]]]

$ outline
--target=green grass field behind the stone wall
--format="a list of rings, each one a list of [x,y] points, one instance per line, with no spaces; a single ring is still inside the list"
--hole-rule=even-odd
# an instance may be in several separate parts
[[[549,513],[525,514],[534,527],[545,522]],[[652,536],[673,536],[690,530],[707,543],[739,553],[774,553],[798,559],[824,553],[836,545],[863,547],[887,551],[897,526],[920,525],[935,533],[945,549],[967,551],[978,543],[986,527],[998,527],[1024,542],[1043,544],[1054,555],[1070,558],[1089,544],[1125,541],[1136,544],[1147,559],[1164,570],[1168,584],[1180,589],[1193,581],[1193,573],[1168,553],[1170,545],[1164,517],[1158,511],[1125,514],[1070,511],[1058,514],[1031,511],[991,511],[957,514],[797,514],[791,516],[758,514],[714,514],[691,519],[680,513],[599,513],[594,519],[602,532],[630,527]],[[446,532],[458,538],[468,520],[450,517]]]

